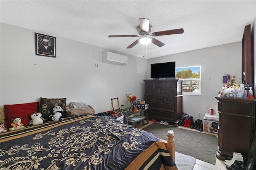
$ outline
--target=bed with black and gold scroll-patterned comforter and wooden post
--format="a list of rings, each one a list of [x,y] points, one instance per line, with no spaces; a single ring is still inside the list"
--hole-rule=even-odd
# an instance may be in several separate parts
[[[92,115],[68,117],[62,122],[1,133],[0,167],[177,170],[173,135],[168,136],[168,141],[162,141],[142,129]]]

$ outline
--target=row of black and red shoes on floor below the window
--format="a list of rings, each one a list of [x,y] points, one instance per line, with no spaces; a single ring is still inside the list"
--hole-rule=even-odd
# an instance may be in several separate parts
[[[194,121],[194,118],[192,116],[190,116],[189,118],[179,119],[178,121],[176,121],[175,124],[176,124],[176,127],[178,126],[190,127],[190,128],[199,130],[201,132],[203,131],[203,121],[200,119],[197,119],[196,121]]]

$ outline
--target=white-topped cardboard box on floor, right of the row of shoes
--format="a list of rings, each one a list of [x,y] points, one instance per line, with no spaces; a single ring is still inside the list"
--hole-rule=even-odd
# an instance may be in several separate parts
[[[219,118],[206,113],[203,118],[203,130],[218,134]]]

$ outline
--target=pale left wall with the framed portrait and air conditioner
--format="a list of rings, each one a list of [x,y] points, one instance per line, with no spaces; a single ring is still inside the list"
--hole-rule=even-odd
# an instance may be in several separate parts
[[[38,56],[35,32],[1,23],[1,109],[40,97],[66,97],[67,103],[84,101],[99,113],[112,109],[113,97],[120,105],[127,105],[126,93],[144,99],[146,59],[129,55],[125,66],[102,63],[107,49],[61,37],[56,37],[56,58]]]

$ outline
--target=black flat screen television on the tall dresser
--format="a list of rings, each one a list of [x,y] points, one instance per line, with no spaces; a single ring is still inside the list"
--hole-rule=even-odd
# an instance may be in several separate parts
[[[150,77],[154,79],[175,77],[175,61],[151,64]]]

